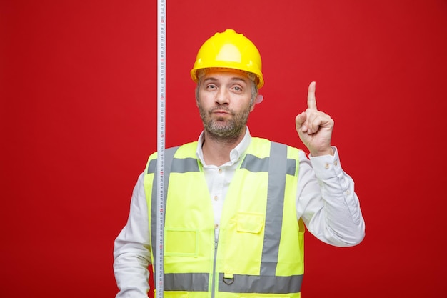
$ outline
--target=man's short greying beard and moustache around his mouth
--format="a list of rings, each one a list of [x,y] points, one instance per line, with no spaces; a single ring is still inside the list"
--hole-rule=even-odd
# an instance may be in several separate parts
[[[204,129],[209,133],[209,136],[220,141],[231,141],[241,136],[246,128],[250,108],[251,106],[247,106],[246,109],[236,113],[235,111],[228,109],[226,106],[215,106],[206,111],[199,103],[199,113],[202,122],[204,123]],[[225,120],[224,117],[212,119],[211,115],[217,109],[228,111],[232,118],[229,120]]]

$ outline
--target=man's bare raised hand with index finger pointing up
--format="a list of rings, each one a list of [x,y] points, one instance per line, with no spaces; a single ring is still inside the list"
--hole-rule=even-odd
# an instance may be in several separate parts
[[[316,109],[315,85],[314,81],[309,84],[307,109],[296,116],[296,131],[313,157],[333,155],[331,147],[333,120],[331,116]]]

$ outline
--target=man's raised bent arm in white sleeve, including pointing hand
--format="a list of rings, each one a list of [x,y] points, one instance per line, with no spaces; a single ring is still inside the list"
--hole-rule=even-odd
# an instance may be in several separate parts
[[[365,236],[354,182],[341,168],[331,146],[333,119],[316,108],[316,83],[309,84],[308,109],[295,119],[296,131],[311,152],[310,160],[301,152],[296,210],[308,230],[323,242],[352,246]]]

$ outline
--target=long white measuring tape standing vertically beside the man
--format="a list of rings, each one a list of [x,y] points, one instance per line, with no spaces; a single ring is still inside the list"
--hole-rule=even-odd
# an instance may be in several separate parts
[[[157,235],[156,272],[154,285],[156,297],[163,298],[164,293],[164,146],[165,146],[165,102],[166,102],[166,1],[158,0],[157,26]]]

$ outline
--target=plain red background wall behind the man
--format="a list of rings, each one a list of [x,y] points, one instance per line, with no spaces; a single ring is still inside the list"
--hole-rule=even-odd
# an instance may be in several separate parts
[[[302,147],[311,80],[336,121],[366,238],[308,234],[303,297],[446,297],[447,2],[167,2],[167,146],[197,138],[189,70],[226,28],[263,57],[254,136]],[[0,297],[114,297],[114,238],[156,150],[156,1],[0,3]]]

